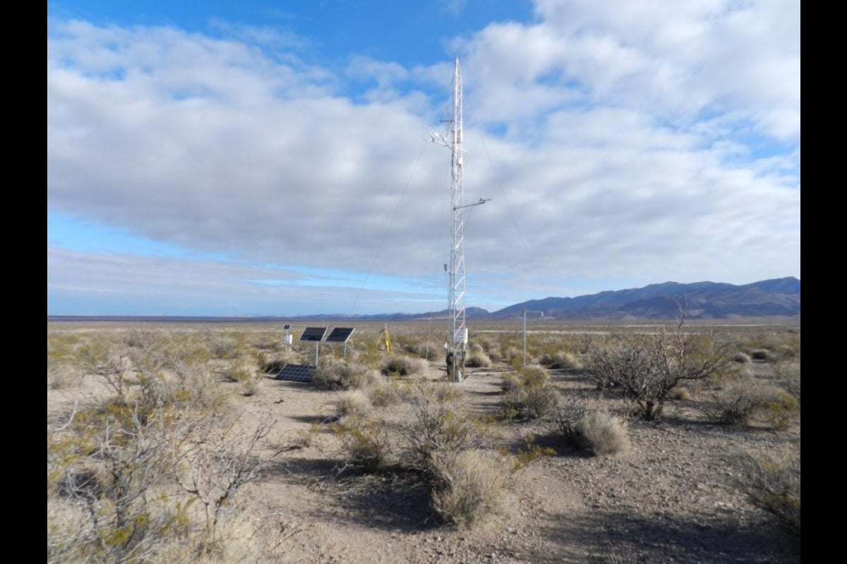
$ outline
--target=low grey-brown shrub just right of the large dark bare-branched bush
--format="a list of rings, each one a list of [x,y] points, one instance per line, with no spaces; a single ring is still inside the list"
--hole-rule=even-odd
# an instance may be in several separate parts
[[[711,402],[700,409],[715,423],[750,424],[750,420],[777,395],[773,386],[749,376],[719,386],[710,393]]]

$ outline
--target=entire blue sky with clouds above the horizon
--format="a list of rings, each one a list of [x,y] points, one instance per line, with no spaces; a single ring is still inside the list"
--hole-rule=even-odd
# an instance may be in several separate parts
[[[48,315],[800,277],[800,0],[47,4]]]

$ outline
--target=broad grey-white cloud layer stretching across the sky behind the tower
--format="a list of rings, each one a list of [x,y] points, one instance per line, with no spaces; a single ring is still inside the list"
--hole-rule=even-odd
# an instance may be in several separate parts
[[[799,276],[795,4],[545,1],[534,24],[457,40],[466,200],[494,199],[468,217],[469,305],[540,297],[518,295],[539,281],[561,295],[573,279]],[[336,76],[266,31],[53,28],[48,205],[260,264],[437,275],[449,152],[422,138],[449,92],[424,91],[449,84],[451,63],[354,54]],[[345,97],[346,79],[370,90]],[[101,279],[119,274],[109,260]],[[48,287],[72,266],[48,260]],[[230,280],[231,266],[195,266]],[[77,282],[62,287],[94,283]],[[245,283],[230,282],[222,293]],[[251,292],[284,298],[265,286]]]

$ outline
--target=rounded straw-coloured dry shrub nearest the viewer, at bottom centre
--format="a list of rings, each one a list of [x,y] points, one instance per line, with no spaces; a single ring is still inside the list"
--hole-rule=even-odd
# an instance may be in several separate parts
[[[432,468],[432,507],[446,523],[469,528],[500,510],[507,474],[494,454],[479,450],[435,452]]]

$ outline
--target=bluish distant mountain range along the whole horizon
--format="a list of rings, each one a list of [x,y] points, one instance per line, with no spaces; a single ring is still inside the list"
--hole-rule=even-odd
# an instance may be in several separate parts
[[[594,293],[577,298],[531,299],[495,312],[468,308],[469,320],[506,320],[523,317],[523,310],[543,311],[554,320],[675,319],[678,304],[687,319],[800,315],[800,280],[775,278],[736,286],[722,282],[679,284],[664,282],[628,290]],[[447,317],[447,310],[425,314],[297,315],[296,317],[193,317],[193,316],[77,316],[47,315],[47,320],[422,320]]]

